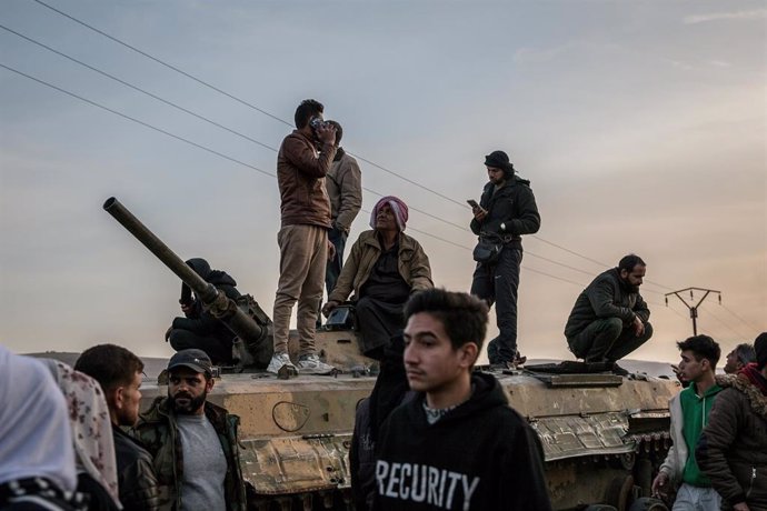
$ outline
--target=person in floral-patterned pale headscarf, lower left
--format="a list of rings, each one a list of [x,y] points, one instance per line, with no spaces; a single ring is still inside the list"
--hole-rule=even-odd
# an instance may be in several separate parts
[[[44,359],[63,393],[74,444],[77,491],[89,495],[89,511],[122,509],[117,484],[112,422],[98,381],[58,360]]]

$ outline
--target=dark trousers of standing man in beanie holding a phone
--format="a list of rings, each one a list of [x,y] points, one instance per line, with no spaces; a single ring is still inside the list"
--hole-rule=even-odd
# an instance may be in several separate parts
[[[471,294],[496,304],[498,337],[487,345],[490,363],[514,361],[517,353],[517,289],[522,251],[504,247],[498,261],[490,265],[477,263],[471,282]]]

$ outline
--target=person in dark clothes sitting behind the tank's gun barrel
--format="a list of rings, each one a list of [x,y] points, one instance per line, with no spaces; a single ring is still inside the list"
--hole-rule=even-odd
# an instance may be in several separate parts
[[[216,285],[228,298],[240,297],[237,282],[226,271],[211,270],[208,261],[200,258],[190,259],[187,265],[206,282]],[[191,289],[181,284],[181,311],[185,318],[176,318],[166,333],[166,340],[176,351],[197,349],[208,353],[213,364],[232,363],[232,342],[235,333],[220,320],[207,312]]]

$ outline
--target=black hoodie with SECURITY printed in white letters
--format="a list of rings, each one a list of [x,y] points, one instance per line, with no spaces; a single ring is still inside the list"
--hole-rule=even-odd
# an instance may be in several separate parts
[[[491,374],[434,424],[425,394],[397,408],[376,445],[373,510],[550,510],[538,435]]]

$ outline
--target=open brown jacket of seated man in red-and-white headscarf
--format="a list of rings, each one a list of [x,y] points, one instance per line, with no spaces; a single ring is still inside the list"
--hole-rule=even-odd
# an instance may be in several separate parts
[[[359,297],[359,290],[370,277],[372,267],[380,254],[381,246],[376,231],[362,232],[351,247],[351,253],[343,263],[341,274],[338,277],[336,288],[328,297],[328,301],[342,302],[351,291]],[[399,274],[410,285],[410,292],[434,288],[429,258],[420,243],[404,232],[399,233],[398,259]]]

